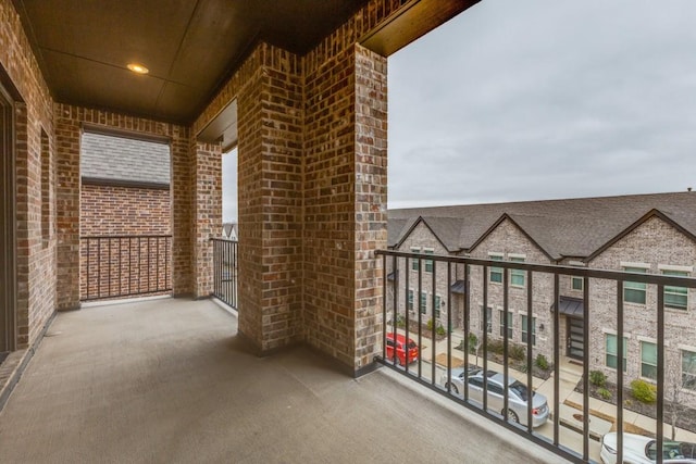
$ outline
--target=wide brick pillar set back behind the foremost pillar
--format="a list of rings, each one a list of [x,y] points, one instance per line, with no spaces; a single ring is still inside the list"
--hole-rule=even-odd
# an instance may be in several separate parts
[[[239,333],[261,353],[302,336],[300,65],[262,43],[237,95]]]

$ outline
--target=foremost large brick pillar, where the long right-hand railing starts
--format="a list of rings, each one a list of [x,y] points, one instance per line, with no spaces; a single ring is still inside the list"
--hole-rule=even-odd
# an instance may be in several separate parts
[[[306,62],[307,341],[356,373],[381,347],[386,59],[353,45]]]

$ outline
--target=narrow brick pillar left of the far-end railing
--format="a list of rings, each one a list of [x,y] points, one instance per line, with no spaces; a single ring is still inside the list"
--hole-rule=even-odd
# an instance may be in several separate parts
[[[79,136],[74,106],[55,105],[57,309],[79,308]]]

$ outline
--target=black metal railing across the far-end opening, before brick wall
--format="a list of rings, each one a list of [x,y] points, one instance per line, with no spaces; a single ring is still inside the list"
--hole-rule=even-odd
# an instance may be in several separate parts
[[[171,235],[80,237],[80,300],[170,292],[171,247]]]

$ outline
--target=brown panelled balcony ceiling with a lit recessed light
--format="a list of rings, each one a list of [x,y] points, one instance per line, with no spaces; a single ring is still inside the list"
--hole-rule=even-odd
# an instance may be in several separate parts
[[[258,41],[303,54],[366,0],[13,3],[55,101],[189,124]]]

